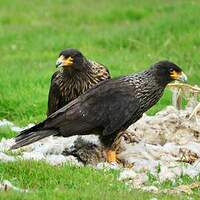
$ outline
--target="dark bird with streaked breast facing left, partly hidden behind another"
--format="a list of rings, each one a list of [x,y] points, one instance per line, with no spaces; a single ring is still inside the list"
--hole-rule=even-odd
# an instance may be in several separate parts
[[[51,78],[47,116],[100,81],[111,78],[106,66],[88,60],[79,50],[73,48],[60,52],[56,67],[60,70]]]

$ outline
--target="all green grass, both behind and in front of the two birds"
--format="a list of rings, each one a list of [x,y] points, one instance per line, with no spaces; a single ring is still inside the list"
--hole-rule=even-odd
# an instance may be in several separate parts
[[[0,119],[20,125],[44,119],[55,60],[67,47],[78,48],[88,58],[109,66],[113,76],[170,59],[182,66],[190,83],[199,84],[199,10],[197,0],[0,0]],[[166,92],[150,113],[169,102],[170,93]],[[1,133],[5,136],[5,131]],[[153,196],[128,192],[123,184],[115,182],[116,174],[102,175],[88,168],[53,168],[32,162],[1,163],[0,168],[1,178],[37,191],[24,195],[25,199]],[[22,199],[21,194],[2,195]]]

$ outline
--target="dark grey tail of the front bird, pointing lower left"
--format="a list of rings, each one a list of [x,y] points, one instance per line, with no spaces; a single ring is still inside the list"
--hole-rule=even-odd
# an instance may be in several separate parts
[[[11,149],[18,149],[50,135],[58,134],[58,131],[56,131],[55,129],[42,130],[42,127],[43,123],[40,123],[22,131],[18,136],[15,137],[15,144],[11,147]]]

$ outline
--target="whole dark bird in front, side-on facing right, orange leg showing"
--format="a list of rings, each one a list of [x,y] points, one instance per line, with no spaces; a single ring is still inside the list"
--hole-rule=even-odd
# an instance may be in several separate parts
[[[50,135],[96,134],[105,148],[106,160],[117,162],[112,144],[118,133],[139,120],[159,101],[167,84],[175,80],[184,82],[187,76],[178,65],[164,60],[142,72],[103,81],[43,122],[22,131],[11,149]]]

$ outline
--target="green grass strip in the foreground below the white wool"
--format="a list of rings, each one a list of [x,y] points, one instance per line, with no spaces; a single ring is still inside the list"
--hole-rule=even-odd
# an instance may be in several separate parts
[[[89,167],[49,166],[42,162],[0,163],[1,178],[10,180],[29,193],[2,192],[6,199],[177,199],[175,195],[151,194],[130,190],[117,180],[118,171]],[[51,192],[51,194],[49,194]],[[179,196],[181,197],[181,196]],[[183,197],[183,196],[182,196]],[[185,199],[187,195],[184,196]],[[192,195],[198,197],[197,194]]]

